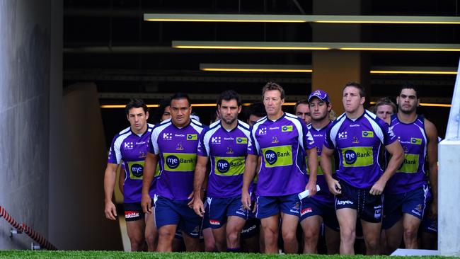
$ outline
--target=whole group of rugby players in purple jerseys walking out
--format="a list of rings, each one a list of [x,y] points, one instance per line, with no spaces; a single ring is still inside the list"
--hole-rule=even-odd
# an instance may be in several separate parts
[[[246,123],[238,93],[224,91],[209,127],[191,117],[185,93],[156,125],[142,100],[127,104],[130,127],[110,146],[104,188],[105,217],[115,220],[122,161],[132,251],[180,251],[182,240],[186,251],[389,254],[420,248],[419,226],[435,243],[438,137],[416,113],[415,86],[401,88],[397,110],[383,99],[374,114],[364,87],[345,84],[337,118],[322,90],[294,115],[282,110],[282,86],[269,82],[262,96]]]

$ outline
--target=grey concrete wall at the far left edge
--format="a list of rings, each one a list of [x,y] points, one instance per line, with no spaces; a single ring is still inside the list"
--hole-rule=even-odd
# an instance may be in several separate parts
[[[0,0],[0,206],[47,236],[50,91],[50,0]],[[9,238],[0,249],[30,248]]]

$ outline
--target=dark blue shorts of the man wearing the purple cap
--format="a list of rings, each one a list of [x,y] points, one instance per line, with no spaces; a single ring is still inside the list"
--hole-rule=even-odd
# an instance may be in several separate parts
[[[328,228],[340,231],[333,203],[320,202],[313,197],[301,200],[300,221],[315,215],[321,216]]]

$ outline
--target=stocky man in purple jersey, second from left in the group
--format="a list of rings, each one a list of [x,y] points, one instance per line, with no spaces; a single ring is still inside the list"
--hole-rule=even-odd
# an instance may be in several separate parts
[[[169,252],[178,225],[187,251],[199,248],[202,219],[188,202],[193,191],[193,171],[197,160],[198,136],[204,126],[190,119],[190,100],[185,93],[171,97],[171,120],[156,125],[151,133],[142,183],[142,209],[151,213],[149,185],[159,162],[155,187],[155,223],[159,231],[157,251]]]

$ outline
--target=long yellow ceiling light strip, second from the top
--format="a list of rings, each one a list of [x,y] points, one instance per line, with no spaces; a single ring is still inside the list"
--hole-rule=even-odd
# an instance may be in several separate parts
[[[362,50],[460,52],[460,44],[376,42],[220,42],[173,40],[172,47],[208,50]]]

